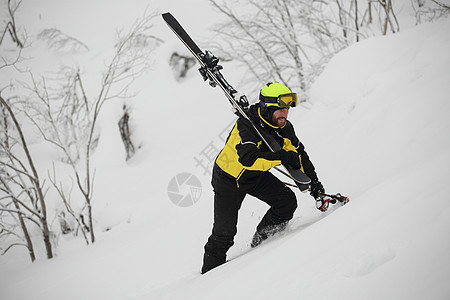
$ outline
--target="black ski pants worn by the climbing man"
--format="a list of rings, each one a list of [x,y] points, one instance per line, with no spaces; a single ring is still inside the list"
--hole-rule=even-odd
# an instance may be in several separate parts
[[[226,253],[233,246],[237,233],[238,211],[247,194],[270,206],[257,226],[258,231],[286,223],[297,208],[294,192],[270,172],[264,172],[258,182],[247,189],[239,189],[236,182],[227,182],[229,180],[224,177],[214,180],[213,175],[214,225],[205,245],[202,273],[226,262]]]

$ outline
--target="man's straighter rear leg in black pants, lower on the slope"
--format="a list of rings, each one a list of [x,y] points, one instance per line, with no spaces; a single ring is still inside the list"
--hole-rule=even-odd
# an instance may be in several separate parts
[[[205,245],[202,274],[226,262],[226,253],[234,244],[238,211],[244,197],[245,193],[242,192],[218,192],[215,190],[214,225],[212,234]]]

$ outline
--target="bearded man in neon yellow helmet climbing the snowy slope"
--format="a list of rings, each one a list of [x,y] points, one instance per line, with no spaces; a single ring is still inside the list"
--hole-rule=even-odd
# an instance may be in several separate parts
[[[238,211],[245,195],[250,194],[270,208],[256,227],[251,243],[258,246],[271,235],[284,230],[297,208],[294,192],[269,170],[283,164],[301,169],[311,179],[311,195],[319,200],[325,190],[314,166],[287,120],[290,107],[297,105],[297,95],[280,83],[268,83],[247,115],[254,124],[274,137],[282,150],[271,152],[252,124],[240,117],[228,136],[213,168],[214,225],[205,245],[202,274],[226,262],[226,253],[234,244]]]

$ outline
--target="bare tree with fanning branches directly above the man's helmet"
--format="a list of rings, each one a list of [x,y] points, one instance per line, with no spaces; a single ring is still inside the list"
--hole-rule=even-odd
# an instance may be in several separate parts
[[[304,61],[309,57],[306,45],[298,39],[302,29],[292,22],[292,7],[280,0],[251,0],[248,10],[253,13],[244,16],[235,12],[233,4],[215,0],[211,3],[230,20],[215,29],[225,37],[225,56],[244,63],[258,82],[277,80],[305,88]]]

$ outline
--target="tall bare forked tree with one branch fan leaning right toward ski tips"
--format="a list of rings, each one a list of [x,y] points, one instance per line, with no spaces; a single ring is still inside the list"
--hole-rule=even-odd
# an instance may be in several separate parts
[[[84,209],[91,243],[95,242],[93,220],[93,193],[95,169],[91,153],[99,139],[98,117],[106,102],[112,99],[131,97],[131,84],[149,68],[149,55],[160,40],[149,34],[151,20],[155,15],[145,15],[136,20],[129,31],[118,32],[115,52],[102,76],[98,93],[89,97],[83,87],[79,68],[66,67],[60,72],[59,87],[49,86],[47,79],[31,76],[32,85],[26,87],[33,92],[30,106],[25,110],[44,139],[60,149],[63,159],[73,171],[78,191],[84,199]],[[51,84],[50,84],[51,85]],[[38,101],[36,101],[38,100]],[[36,105],[38,103],[38,105]],[[55,176],[51,177],[78,224],[84,224],[84,214],[75,213]],[[83,226],[80,226],[83,228]]]

